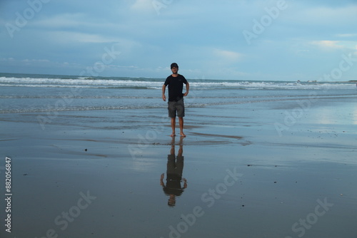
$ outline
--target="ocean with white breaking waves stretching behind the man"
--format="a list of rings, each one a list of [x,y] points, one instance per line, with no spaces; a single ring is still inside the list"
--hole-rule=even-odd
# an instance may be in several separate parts
[[[353,82],[191,79],[186,108],[336,96],[356,97]],[[0,113],[166,108],[165,78],[0,73]],[[167,90],[166,90],[167,94]]]

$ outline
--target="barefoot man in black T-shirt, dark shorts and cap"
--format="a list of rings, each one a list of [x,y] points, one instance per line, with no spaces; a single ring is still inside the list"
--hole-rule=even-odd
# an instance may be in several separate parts
[[[166,78],[164,85],[162,86],[162,99],[166,101],[165,90],[166,86],[169,86],[169,118],[171,118],[171,128],[172,134],[171,137],[175,136],[175,127],[176,127],[176,113],[178,117],[178,123],[180,125],[180,135],[186,136],[183,134],[183,117],[185,116],[185,105],[183,104],[183,96],[188,95],[188,90],[190,84],[186,81],[186,78],[178,74],[178,65],[177,63],[171,63],[171,76]],[[182,93],[183,83],[186,85],[186,93]]]

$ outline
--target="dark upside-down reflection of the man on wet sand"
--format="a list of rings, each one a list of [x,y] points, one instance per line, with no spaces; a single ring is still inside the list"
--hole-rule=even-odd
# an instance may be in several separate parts
[[[164,174],[160,177],[160,185],[164,189],[165,195],[169,196],[168,205],[174,207],[176,196],[180,196],[187,187],[186,179],[182,178],[183,172],[183,145],[182,137],[180,138],[180,148],[177,157],[175,155],[175,138],[172,138],[170,155],[167,155],[166,185],[164,184]],[[183,180],[183,187],[181,182]]]

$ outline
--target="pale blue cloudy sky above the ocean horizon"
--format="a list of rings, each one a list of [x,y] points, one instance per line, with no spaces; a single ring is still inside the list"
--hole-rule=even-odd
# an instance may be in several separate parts
[[[356,22],[356,0],[0,0],[0,72],[350,81]]]

